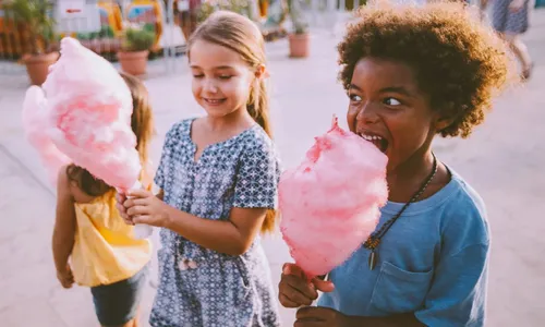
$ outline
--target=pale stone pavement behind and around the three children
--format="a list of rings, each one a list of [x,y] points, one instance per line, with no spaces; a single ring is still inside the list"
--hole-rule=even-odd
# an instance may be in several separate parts
[[[272,119],[277,144],[287,167],[295,165],[330,123],[344,116],[347,98],[336,82],[338,35],[317,33],[307,60],[287,58],[287,43],[268,45]],[[488,206],[493,232],[488,326],[543,326],[545,305],[545,11],[534,13],[525,36],[536,69],[533,80],[498,99],[484,125],[469,140],[439,140],[436,153],[467,178]],[[177,64],[175,76],[146,81],[154,102],[158,137],[177,120],[202,114],[194,104],[190,75]],[[162,66],[162,65],[161,65]],[[160,74],[159,74],[160,75]],[[51,259],[53,190],[34,150],[23,138],[21,105],[25,76],[0,76],[0,325],[7,327],[97,326],[90,294],[59,287]],[[342,119],[341,119],[342,121]],[[265,245],[278,282],[289,255],[279,235]],[[154,269],[155,270],[155,269]],[[154,271],[156,274],[156,271]],[[142,316],[146,320],[154,289],[146,289]],[[282,310],[284,326],[293,311]],[[147,326],[147,323],[144,324]]]

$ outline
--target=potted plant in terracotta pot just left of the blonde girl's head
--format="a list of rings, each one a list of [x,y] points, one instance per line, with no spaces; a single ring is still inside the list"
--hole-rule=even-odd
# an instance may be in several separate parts
[[[147,57],[155,43],[155,33],[144,26],[131,26],[123,31],[118,59],[121,70],[131,75],[143,75],[147,71]]]

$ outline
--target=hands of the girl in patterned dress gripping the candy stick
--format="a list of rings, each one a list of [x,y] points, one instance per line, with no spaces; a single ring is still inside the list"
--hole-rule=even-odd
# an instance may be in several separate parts
[[[146,190],[130,191],[123,202],[123,219],[129,220],[132,225],[145,223],[165,227],[169,218],[168,205]]]

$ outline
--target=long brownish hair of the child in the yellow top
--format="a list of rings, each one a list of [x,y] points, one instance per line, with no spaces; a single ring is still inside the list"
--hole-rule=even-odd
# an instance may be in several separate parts
[[[148,100],[148,93],[144,84],[136,77],[120,73],[125,81],[133,98],[133,113],[131,116],[131,128],[136,135],[136,150],[143,170],[148,160],[149,143],[154,135],[154,112]],[[69,180],[75,182],[80,190],[92,196],[100,196],[112,190],[105,181],[95,178],[86,169],[69,165],[66,167]]]

